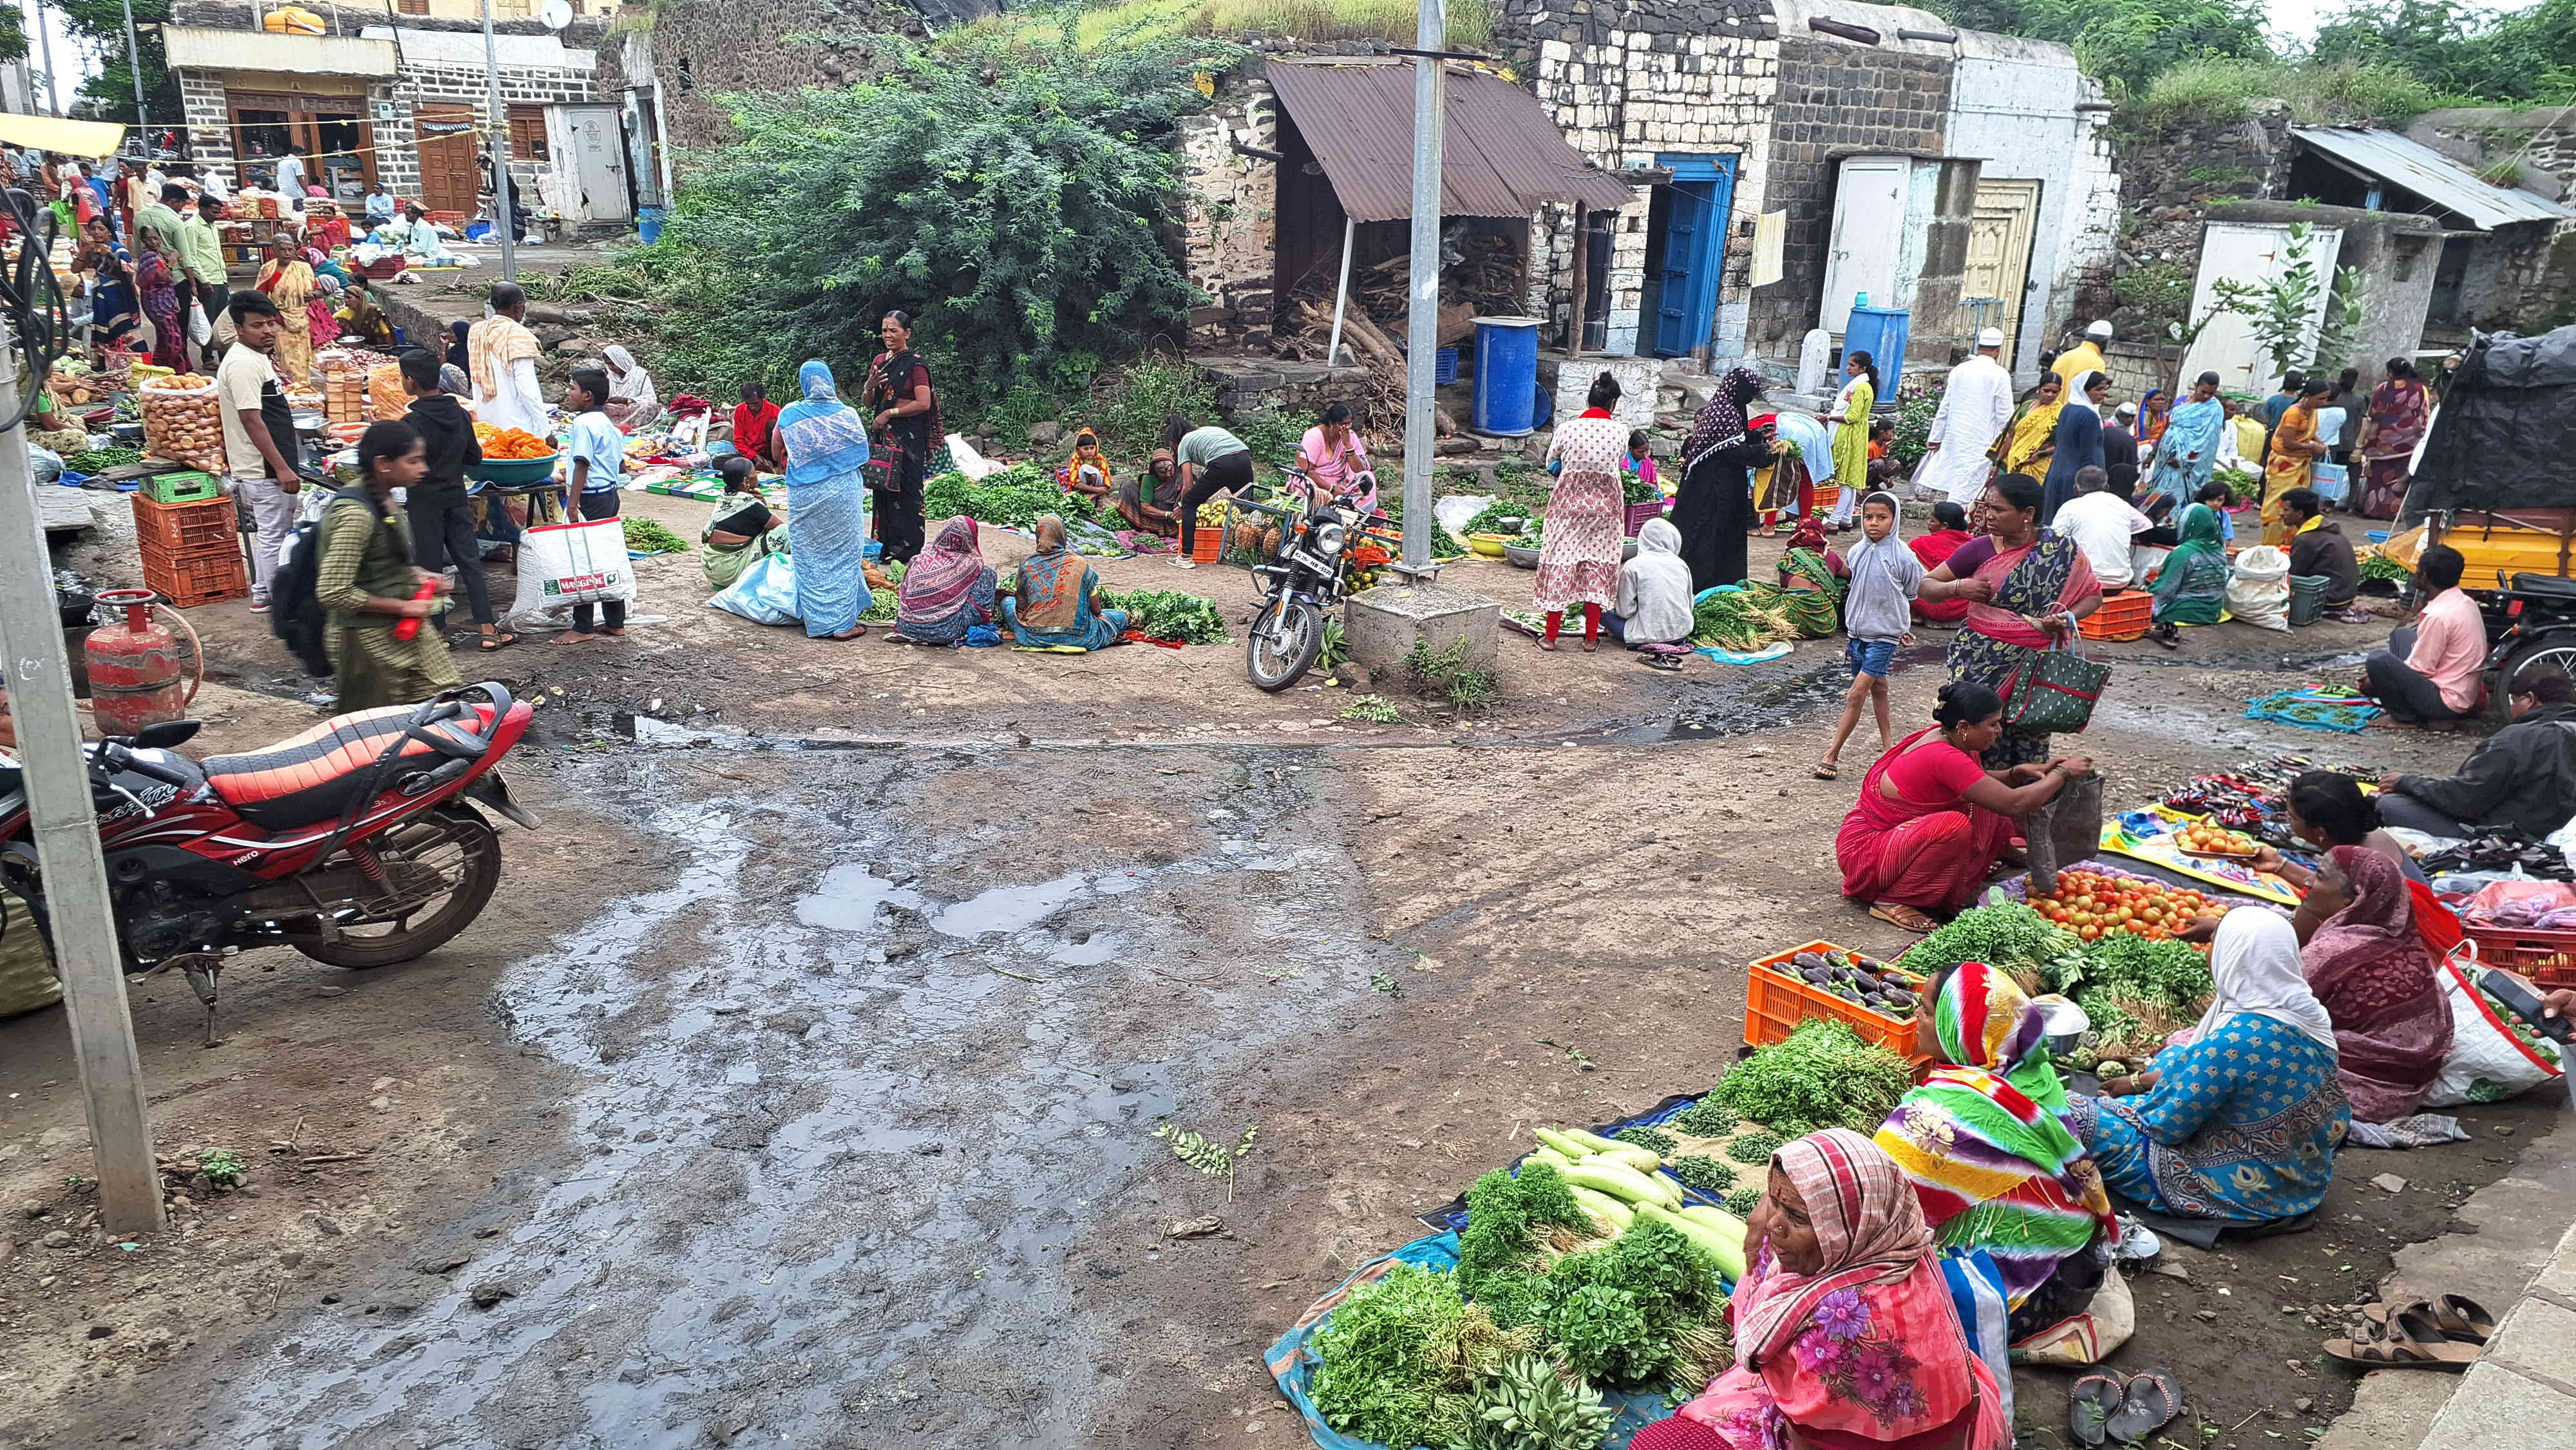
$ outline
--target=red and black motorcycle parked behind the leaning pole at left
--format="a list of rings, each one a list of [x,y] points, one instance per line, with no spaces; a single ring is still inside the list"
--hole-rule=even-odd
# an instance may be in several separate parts
[[[196,721],[90,744],[126,974],[180,968],[206,1004],[211,1046],[216,974],[242,948],[291,945],[348,968],[435,950],[500,883],[500,834],[466,801],[536,824],[495,770],[528,719],[510,690],[484,683],[204,762],[173,749]],[[0,767],[0,876],[44,930],[15,767]]]

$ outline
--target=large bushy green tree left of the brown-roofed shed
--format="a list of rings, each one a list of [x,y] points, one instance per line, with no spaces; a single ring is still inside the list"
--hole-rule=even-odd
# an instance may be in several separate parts
[[[1015,386],[1066,391],[1200,301],[1162,245],[1193,72],[1234,49],[1126,33],[1074,44],[969,28],[878,36],[881,75],[726,98],[739,139],[696,160],[672,221],[631,252],[665,368],[732,389],[799,358],[855,391],[904,309],[956,415]]]

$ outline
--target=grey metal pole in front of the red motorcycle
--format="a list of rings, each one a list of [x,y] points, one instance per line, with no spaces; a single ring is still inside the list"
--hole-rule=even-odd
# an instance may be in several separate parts
[[[5,327],[0,327],[5,343]],[[15,345],[0,348],[15,358]],[[0,417],[18,412],[15,366],[0,363]],[[90,1118],[90,1162],[98,1169],[98,1216],[108,1234],[162,1229],[160,1174],[152,1167],[152,1120],[144,1113],[142,1059],[126,1015],[124,953],[108,907],[108,863],[98,850],[98,809],[72,711],[72,664],[54,610],[54,567],[26,466],[26,428],[0,433],[0,659],[8,662],[18,765],[26,780],[36,865],[62,968],[62,1004],[80,1061],[80,1095]],[[10,930],[31,930],[13,912]]]

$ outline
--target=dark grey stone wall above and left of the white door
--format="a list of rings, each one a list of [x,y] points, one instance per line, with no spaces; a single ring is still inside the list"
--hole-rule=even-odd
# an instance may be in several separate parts
[[[1777,44],[1780,103],[1772,111],[1762,209],[1788,211],[1788,240],[1780,281],[1754,296],[1749,350],[1795,358],[1824,299],[1839,157],[1942,155],[1953,62],[1821,33],[1785,36]]]

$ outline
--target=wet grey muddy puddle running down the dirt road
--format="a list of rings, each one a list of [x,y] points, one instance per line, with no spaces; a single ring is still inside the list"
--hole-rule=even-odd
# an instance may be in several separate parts
[[[837,773],[873,796],[891,767]],[[590,770],[613,798],[657,780]],[[1355,935],[1340,891],[1206,881],[1350,871],[1296,837],[1288,786],[1249,819],[1211,814],[1221,840],[1198,855],[1007,886],[984,847],[914,865],[904,852],[943,842],[904,837],[899,811],[845,819],[824,796],[850,788],[639,806],[685,847],[670,886],[611,904],[492,999],[585,1074],[564,1113],[592,1156],[469,1241],[464,1270],[422,1277],[425,1298],[376,1295],[410,1313],[345,1303],[281,1329],[219,1406],[232,1445],[951,1445],[994,1417],[1015,1445],[1095,1442],[1121,1386],[1087,1365],[1118,1308],[1092,1321],[1074,1285],[1118,1270],[1064,1247],[1167,1156],[1157,1120],[1236,1133],[1216,1105],[1234,1064],[1365,1002],[1391,948]],[[747,871],[775,837],[835,865]],[[1146,971],[1208,971],[1185,961],[1208,943],[1172,891],[1247,901],[1231,958],[1334,966],[1139,1015]],[[1175,1012],[1206,1025],[1175,1033]],[[510,1298],[474,1308],[482,1285]]]

